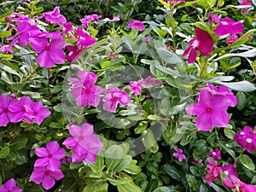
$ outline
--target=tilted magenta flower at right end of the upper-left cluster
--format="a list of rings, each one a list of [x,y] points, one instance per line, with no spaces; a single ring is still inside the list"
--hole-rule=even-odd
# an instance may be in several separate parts
[[[77,39],[79,42],[77,43],[79,49],[83,48],[83,47],[89,47],[92,44],[96,44],[96,40],[94,38],[91,38],[89,34],[84,33],[83,30],[81,28],[79,28],[79,26],[75,29],[75,32],[78,35]]]

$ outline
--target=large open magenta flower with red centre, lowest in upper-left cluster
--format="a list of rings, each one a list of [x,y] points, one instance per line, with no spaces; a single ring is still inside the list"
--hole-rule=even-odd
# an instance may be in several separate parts
[[[65,62],[65,52],[62,50],[65,39],[60,35],[53,37],[49,43],[48,38],[32,38],[30,43],[32,49],[40,53],[37,57],[40,67],[52,67]]]

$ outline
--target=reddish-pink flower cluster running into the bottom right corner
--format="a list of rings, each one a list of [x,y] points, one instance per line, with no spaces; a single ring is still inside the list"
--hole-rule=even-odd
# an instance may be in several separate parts
[[[209,186],[212,186],[212,182],[215,179],[219,179],[223,181],[224,185],[232,189],[232,191],[236,191],[237,188],[239,188],[239,191],[241,192],[256,191],[256,186],[253,184],[243,183],[238,178],[239,176],[235,171],[236,163],[234,165],[226,164],[224,166],[218,166],[217,160],[208,158],[207,161],[207,175],[204,179],[208,180]]]

